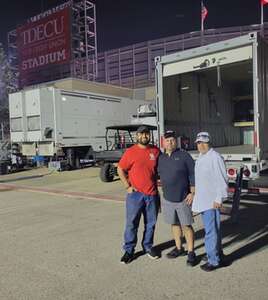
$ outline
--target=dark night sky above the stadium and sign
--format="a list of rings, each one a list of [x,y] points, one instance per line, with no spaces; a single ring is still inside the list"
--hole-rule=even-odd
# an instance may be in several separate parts
[[[97,9],[98,50],[200,30],[200,0],[92,0]],[[7,32],[65,1],[10,0],[0,9],[0,43]],[[204,0],[205,29],[260,23],[260,0]],[[268,5],[264,21],[268,22]]]

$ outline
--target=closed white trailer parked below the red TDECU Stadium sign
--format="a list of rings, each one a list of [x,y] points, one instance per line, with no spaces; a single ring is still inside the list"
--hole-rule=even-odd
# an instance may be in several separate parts
[[[25,156],[64,157],[72,167],[78,167],[92,151],[104,149],[107,126],[128,124],[144,103],[117,94],[55,86],[10,94],[11,141],[21,146]]]

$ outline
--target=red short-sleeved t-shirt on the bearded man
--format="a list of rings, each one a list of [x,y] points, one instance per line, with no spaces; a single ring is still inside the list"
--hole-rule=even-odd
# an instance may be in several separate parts
[[[130,184],[146,195],[157,194],[156,165],[159,149],[155,146],[141,148],[134,145],[126,150],[119,167],[128,173]]]

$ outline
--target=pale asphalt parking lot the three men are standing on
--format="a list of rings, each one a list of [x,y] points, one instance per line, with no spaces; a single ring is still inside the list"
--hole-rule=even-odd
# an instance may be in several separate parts
[[[244,197],[238,224],[222,216],[224,268],[205,273],[185,257],[168,260],[173,241],[161,214],[161,258],[142,255],[139,239],[137,259],[122,265],[125,191],[119,181],[101,183],[98,171],[0,176],[0,299],[268,298],[267,196]],[[198,216],[194,228],[201,257]]]

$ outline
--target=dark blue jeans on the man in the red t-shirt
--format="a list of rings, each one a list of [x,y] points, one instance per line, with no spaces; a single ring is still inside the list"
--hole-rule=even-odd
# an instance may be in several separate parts
[[[141,215],[143,215],[144,219],[142,247],[144,251],[149,251],[152,248],[158,208],[158,195],[149,196],[140,192],[127,194],[126,227],[123,246],[126,252],[134,253]]]

